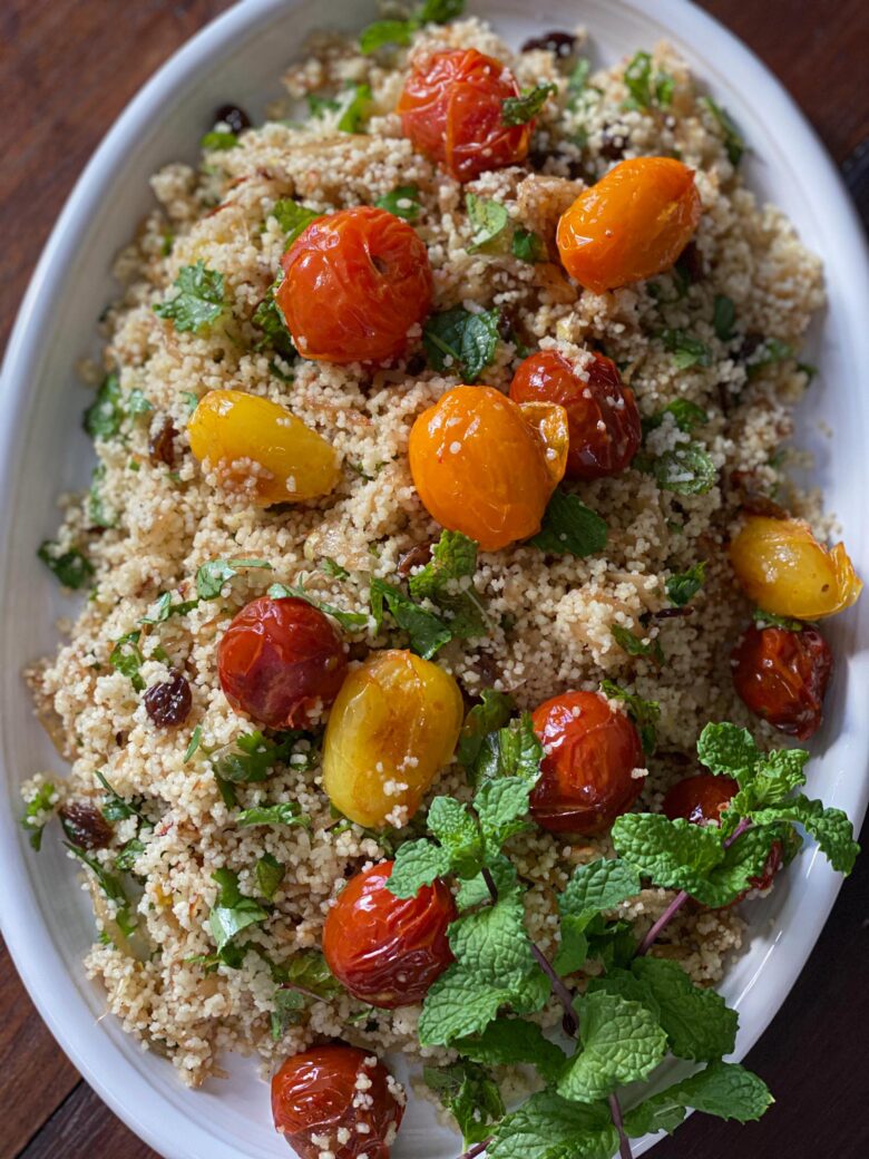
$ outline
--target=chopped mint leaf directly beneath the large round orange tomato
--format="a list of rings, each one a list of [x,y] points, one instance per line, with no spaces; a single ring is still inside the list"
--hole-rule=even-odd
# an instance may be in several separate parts
[[[489,622],[473,576],[477,545],[460,531],[443,531],[431,561],[408,580],[415,600],[430,599],[444,612],[454,639],[485,635]]]

